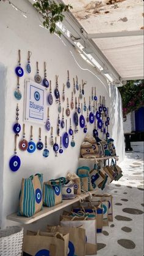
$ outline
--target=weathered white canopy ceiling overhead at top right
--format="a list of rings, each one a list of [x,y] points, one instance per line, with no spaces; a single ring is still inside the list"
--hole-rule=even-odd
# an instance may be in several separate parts
[[[142,0],[63,0],[123,80],[143,77]]]

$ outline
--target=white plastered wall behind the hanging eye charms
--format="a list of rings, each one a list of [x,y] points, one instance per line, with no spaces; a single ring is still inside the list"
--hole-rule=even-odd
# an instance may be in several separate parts
[[[16,88],[15,66],[18,60],[18,49],[21,49],[21,65],[26,71],[27,51],[31,50],[31,66],[32,73],[28,75],[25,72],[24,77],[20,79],[20,90],[24,95],[24,79],[30,78],[34,80],[36,71],[36,61],[39,62],[40,75],[43,77],[43,62],[47,62],[47,75],[52,80],[52,90],[55,87],[55,76],[59,75],[59,90],[62,93],[62,84],[67,81],[67,70],[70,71],[70,79],[72,84],[73,77],[76,75],[81,79],[87,80],[85,86],[85,97],[88,103],[88,96],[92,91],[92,86],[96,86],[97,93],[105,96],[107,106],[110,113],[110,128],[109,132],[117,147],[117,154],[120,155],[120,160],[124,156],[124,140],[123,140],[123,120],[121,115],[121,98],[117,88],[109,87],[106,80],[96,75],[94,69],[90,67],[81,56],[76,52],[75,48],[63,37],[49,35],[48,30],[41,28],[41,17],[38,16],[36,10],[26,0],[16,1],[13,3],[18,5],[21,10],[26,12],[27,18],[23,17],[21,12],[16,11],[8,2],[0,4],[0,56],[1,63],[7,68],[7,74],[2,74],[1,80],[6,82],[1,83],[1,98],[0,109],[5,107],[4,116],[1,122],[5,127],[1,127],[1,136],[4,136],[4,143],[0,144],[1,155],[4,154],[4,168],[0,166],[1,177],[0,190],[4,190],[3,204],[0,209],[0,224],[2,215],[2,227],[12,225],[5,217],[14,212],[18,208],[18,195],[20,191],[21,178],[29,177],[31,174],[43,173],[44,179],[48,180],[59,176],[65,176],[68,171],[76,171],[79,157],[79,148],[84,133],[79,128],[79,133],[75,136],[76,147],[68,147],[63,155],[54,157],[54,152],[49,146],[50,155],[48,158],[43,158],[41,152],[29,154],[28,152],[20,152],[18,155],[21,158],[21,168],[16,173],[9,169],[9,159],[13,155],[14,134],[12,131],[13,123],[15,122],[16,99],[13,96],[13,91]],[[96,77],[98,76],[98,78]],[[5,92],[5,94],[4,94]],[[66,96],[71,98],[71,89],[66,89]],[[24,98],[24,97],[23,97]],[[18,102],[19,103],[19,102]],[[66,106],[66,104],[64,105]],[[23,124],[23,99],[19,103],[20,108],[20,123]],[[2,109],[1,109],[2,110]],[[4,114],[4,112],[3,112]],[[50,107],[51,123],[54,126],[56,133],[57,122],[57,105],[54,103]],[[26,123],[26,138],[29,140],[30,123]],[[34,125],[34,141],[38,141],[38,127]],[[42,139],[46,135],[44,126],[41,126]],[[93,125],[88,125],[88,131],[92,133]],[[5,133],[4,133],[5,132]],[[4,135],[5,134],[5,135]],[[48,133],[48,136],[50,134]],[[21,138],[21,134],[20,134]],[[2,157],[3,160],[3,157]],[[0,203],[2,196],[0,194]],[[50,220],[52,217],[50,217]],[[54,219],[53,219],[54,220]],[[38,222],[41,223],[41,222]],[[38,224],[37,224],[38,225]]]

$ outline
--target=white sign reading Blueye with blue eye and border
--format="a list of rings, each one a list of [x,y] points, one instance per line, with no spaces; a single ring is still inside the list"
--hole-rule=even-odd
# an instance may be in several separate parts
[[[25,80],[24,120],[46,123],[46,88],[31,80]]]

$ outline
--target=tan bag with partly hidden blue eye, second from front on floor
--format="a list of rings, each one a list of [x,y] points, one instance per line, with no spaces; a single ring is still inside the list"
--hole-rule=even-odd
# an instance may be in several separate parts
[[[47,226],[48,232],[69,233],[68,255],[85,256],[85,229],[81,227]],[[81,246],[80,246],[81,244]]]

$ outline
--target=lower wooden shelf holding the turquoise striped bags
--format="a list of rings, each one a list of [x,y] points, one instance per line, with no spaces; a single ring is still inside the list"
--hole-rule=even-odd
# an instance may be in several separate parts
[[[89,195],[85,194],[85,193],[82,193],[79,196],[81,196],[82,199],[85,199]],[[37,220],[42,219],[43,217],[48,216],[49,214],[52,214],[56,211],[59,211],[60,209],[63,209],[67,206],[70,206],[71,204],[74,204],[79,200],[80,200],[80,198],[78,196],[76,196],[76,198],[74,198],[74,199],[63,200],[63,202],[61,204],[57,204],[56,206],[53,206],[51,208],[43,207],[42,211],[38,212],[37,214],[35,214],[32,217],[18,216],[17,212],[14,212],[13,214],[10,214],[10,215],[7,216],[7,220],[12,220],[14,222],[19,222],[19,223],[22,223],[22,224],[30,224],[32,222],[35,222]]]

